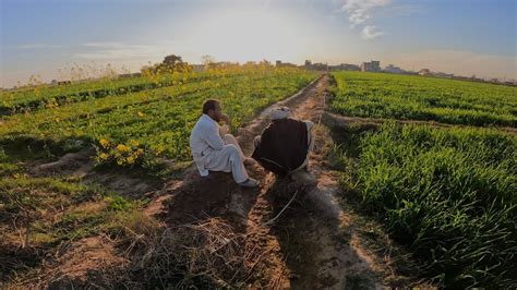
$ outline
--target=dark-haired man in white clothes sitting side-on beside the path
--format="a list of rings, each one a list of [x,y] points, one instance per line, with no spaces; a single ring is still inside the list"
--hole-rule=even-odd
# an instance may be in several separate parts
[[[218,122],[225,122],[220,126]],[[194,162],[202,177],[208,170],[230,172],[233,180],[244,188],[256,188],[258,182],[248,177],[244,162],[253,161],[242,153],[239,143],[231,134],[227,134],[230,118],[224,114],[220,101],[208,99],[203,104],[203,114],[194,125],[190,135],[190,148]]]

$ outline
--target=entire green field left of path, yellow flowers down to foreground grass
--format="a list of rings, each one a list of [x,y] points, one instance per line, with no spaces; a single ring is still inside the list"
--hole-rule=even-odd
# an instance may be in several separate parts
[[[145,196],[131,198],[75,176],[34,176],[35,166],[95,148],[99,170],[161,179],[153,171],[158,159],[191,160],[188,138],[205,99],[220,99],[238,129],[317,75],[238,68],[2,93],[0,252],[12,258],[0,263],[0,279],[37,268],[63,243],[116,237],[135,222],[154,227],[142,213]]]

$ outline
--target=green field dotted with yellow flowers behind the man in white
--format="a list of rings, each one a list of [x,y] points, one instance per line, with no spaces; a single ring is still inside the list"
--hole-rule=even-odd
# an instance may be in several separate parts
[[[116,89],[101,97],[55,106],[45,102],[43,107],[15,111],[2,118],[0,137],[3,143],[21,137],[63,144],[82,141],[97,147],[100,162],[118,165],[141,162],[147,154],[184,160],[190,156],[190,130],[201,114],[204,99],[220,99],[238,128],[261,108],[296,93],[314,78],[315,74],[298,70],[241,69],[216,71],[212,75],[175,74],[153,82],[135,80],[133,84],[163,85],[124,94]],[[127,85],[125,81],[122,83]],[[122,87],[117,82],[111,86]],[[70,98],[81,95],[70,94]],[[17,101],[15,96],[23,101],[34,98],[26,92],[8,96],[19,108],[28,102]]]

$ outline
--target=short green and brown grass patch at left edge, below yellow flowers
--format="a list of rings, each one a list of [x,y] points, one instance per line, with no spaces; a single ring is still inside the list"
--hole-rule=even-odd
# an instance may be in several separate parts
[[[0,257],[36,249],[45,256],[62,242],[103,234],[113,217],[140,210],[141,202],[125,200],[96,184],[57,178],[14,174],[0,180]],[[38,261],[41,261],[39,258]],[[4,268],[19,275],[17,259]],[[25,267],[27,270],[28,267]]]

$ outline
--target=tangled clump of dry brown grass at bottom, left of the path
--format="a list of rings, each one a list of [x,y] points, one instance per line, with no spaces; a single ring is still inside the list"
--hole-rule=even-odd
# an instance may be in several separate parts
[[[247,235],[219,218],[133,235],[128,273],[136,273],[145,287],[240,288],[262,268],[261,249],[245,246]]]

